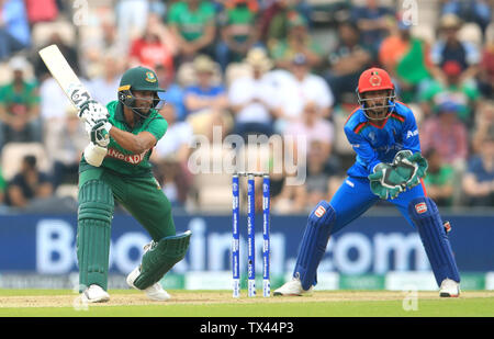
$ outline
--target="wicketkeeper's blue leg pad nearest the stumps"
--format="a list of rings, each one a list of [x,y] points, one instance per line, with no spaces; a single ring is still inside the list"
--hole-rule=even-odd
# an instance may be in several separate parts
[[[326,201],[319,202],[308,215],[293,272],[293,276],[300,279],[305,291],[317,282],[317,267],[326,252],[335,219],[335,210]]]

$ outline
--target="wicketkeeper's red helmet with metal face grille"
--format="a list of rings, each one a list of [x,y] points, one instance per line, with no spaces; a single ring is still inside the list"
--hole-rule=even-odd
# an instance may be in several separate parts
[[[384,108],[388,108],[389,114],[386,114],[385,117],[379,118],[379,120],[384,120],[391,114],[391,112],[393,111],[394,105],[395,105],[396,95],[394,93],[393,81],[391,81],[390,75],[384,69],[372,67],[372,68],[364,70],[360,75],[359,86],[358,86],[356,92],[357,92],[359,104],[362,108],[363,114],[366,114],[366,116],[368,118],[377,120],[374,117],[370,117],[367,115],[366,111],[370,110],[371,108],[369,108],[367,105],[367,99],[364,99],[362,94],[366,92],[380,91],[380,90],[389,91],[388,92],[389,94],[386,97],[383,97],[383,98],[386,98],[386,101],[388,101],[388,104],[384,105]]]

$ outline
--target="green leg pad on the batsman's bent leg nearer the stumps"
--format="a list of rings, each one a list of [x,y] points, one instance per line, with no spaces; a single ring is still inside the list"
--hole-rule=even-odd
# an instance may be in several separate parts
[[[135,279],[134,286],[145,290],[158,282],[171,268],[186,257],[189,248],[190,230],[162,238],[154,242],[144,253],[141,264],[141,274]]]

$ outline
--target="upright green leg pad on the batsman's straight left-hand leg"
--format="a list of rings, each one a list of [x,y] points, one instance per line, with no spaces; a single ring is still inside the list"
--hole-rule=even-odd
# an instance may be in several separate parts
[[[113,193],[103,181],[90,180],[80,188],[77,259],[81,289],[91,284],[108,289],[113,208]]]

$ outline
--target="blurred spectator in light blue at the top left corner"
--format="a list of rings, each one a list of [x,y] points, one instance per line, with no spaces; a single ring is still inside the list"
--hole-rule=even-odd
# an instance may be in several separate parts
[[[0,61],[31,45],[24,1],[0,0]]]

